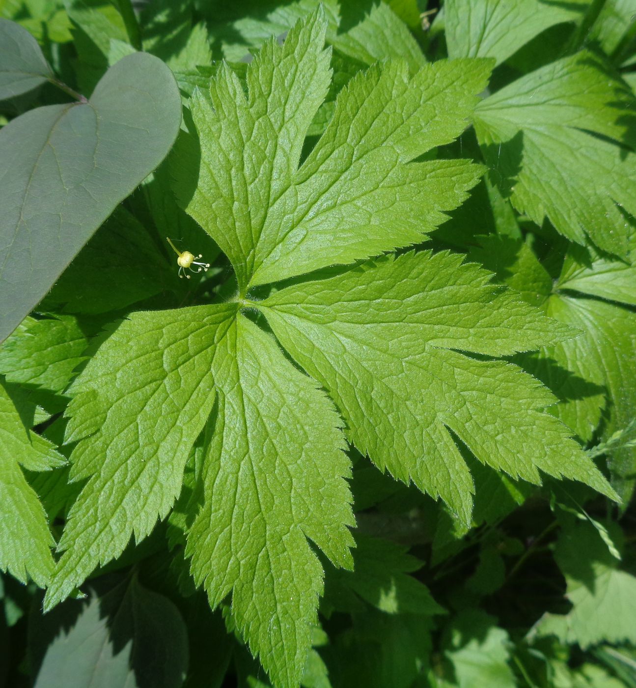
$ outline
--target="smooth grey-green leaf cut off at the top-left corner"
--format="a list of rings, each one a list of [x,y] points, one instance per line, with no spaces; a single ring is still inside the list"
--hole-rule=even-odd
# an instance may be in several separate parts
[[[0,100],[19,96],[53,78],[34,37],[20,25],[0,19]]]

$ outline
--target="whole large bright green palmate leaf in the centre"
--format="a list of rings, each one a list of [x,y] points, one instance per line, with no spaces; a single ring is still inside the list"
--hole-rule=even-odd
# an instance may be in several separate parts
[[[188,513],[173,522],[190,571],[212,606],[232,595],[237,632],[283,688],[303,676],[322,592],[309,541],[336,566],[352,563],[345,438],[443,497],[462,522],[473,485],[454,436],[515,477],[538,483],[544,471],[615,496],[540,411],[553,396],[489,358],[578,330],[462,257],[381,257],[336,277],[291,279],[264,301],[249,292],[420,241],[481,173],[434,154],[415,162],[465,128],[489,70],[470,58],[414,74],[399,61],[361,72],[301,163],[329,88],[326,32],[318,10],[283,45],[265,43],[244,81],[223,65],[190,100],[171,174],[184,208],[228,255],[239,291],[226,286],[226,303],[132,314],[100,339],[69,389],[72,477],[87,483],[45,599],[50,608],[131,535],[146,536],[175,502],[190,454],[179,500]],[[305,372],[259,327],[263,314]],[[393,575],[403,588],[411,565]],[[375,600],[385,580],[358,590]]]

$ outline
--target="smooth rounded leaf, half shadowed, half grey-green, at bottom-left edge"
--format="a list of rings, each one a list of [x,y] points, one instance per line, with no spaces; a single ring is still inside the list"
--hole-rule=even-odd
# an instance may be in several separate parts
[[[51,614],[35,609],[34,688],[180,688],[188,634],[177,607],[136,577]],[[37,656],[39,655],[39,656]]]

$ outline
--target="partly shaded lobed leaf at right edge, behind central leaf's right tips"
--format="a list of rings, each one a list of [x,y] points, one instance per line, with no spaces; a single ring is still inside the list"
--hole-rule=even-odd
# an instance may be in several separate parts
[[[498,279],[519,290],[525,301],[538,303],[548,316],[584,332],[515,359],[558,396],[559,403],[549,412],[584,441],[593,437],[603,409],[603,438],[628,427],[636,414],[636,317],[619,304],[562,290],[578,287],[629,303],[634,292],[630,264],[601,255],[592,246],[571,244],[553,284],[527,242],[503,237],[480,241],[481,248],[471,257],[496,270]],[[530,285],[536,291],[528,291]],[[626,508],[635,486],[636,447],[615,447],[608,456],[613,486]]]

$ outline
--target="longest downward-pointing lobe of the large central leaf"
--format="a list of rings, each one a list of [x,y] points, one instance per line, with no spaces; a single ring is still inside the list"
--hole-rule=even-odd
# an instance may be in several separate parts
[[[230,324],[231,323],[231,324]],[[232,615],[274,685],[295,686],[317,622],[322,567],[307,538],[351,566],[350,466],[341,421],[316,383],[240,314],[212,363],[217,409],[204,504],[188,533],[195,581]]]

